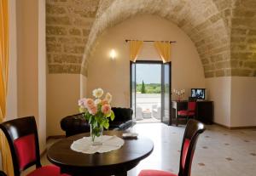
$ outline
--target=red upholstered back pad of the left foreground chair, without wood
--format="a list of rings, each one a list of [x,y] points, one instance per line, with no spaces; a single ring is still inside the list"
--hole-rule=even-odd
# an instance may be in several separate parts
[[[20,170],[23,170],[27,164],[36,161],[35,135],[29,134],[14,141],[15,151],[18,156]]]

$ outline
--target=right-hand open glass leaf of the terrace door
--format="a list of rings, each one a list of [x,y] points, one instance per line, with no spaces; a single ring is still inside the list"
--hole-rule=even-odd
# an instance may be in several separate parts
[[[167,62],[162,65],[162,77],[161,77],[161,122],[166,123],[167,125],[172,124],[171,118],[171,62]]]

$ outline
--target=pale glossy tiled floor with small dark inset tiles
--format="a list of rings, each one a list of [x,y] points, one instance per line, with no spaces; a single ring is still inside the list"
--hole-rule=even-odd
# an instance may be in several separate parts
[[[154,141],[154,151],[128,172],[136,176],[141,169],[178,172],[184,127],[168,127],[162,123],[137,124],[131,129]],[[55,140],[48,142],[53,143]],[[44,156],[44,164],[49,163]],[[256,129],[227,130],[207,126],[195,150],[191,176],[255,176]]]

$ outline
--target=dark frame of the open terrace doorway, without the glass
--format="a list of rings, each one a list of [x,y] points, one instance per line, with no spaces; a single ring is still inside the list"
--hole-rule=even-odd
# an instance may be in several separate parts
[[[169,77],[169,82],[170,82],[170,104],[169,104],[169,108],[170,108],[170,115],[169,115],[169,123],[167,125],[172,125],[172,62],[169,62],[170,63],[170,77]],[[132,108],[132,82],[131,82],[131,65],[132,64],[135,64],[135,91],[136,91],[136,87],[137,87],[137,80],[136,80],[136,64],[160,64],[161,65],[161,87],[162,87],[162,84],[163,84],[163,76],[164,76],[164,70],[163,70],[163,66],[166,64],[166,63],[163,63],[163,61],[161,60],[137,60],[136,62],[132,62],[130,61],[130,107]],[[164,105],[163,104],[163,91],[162,91],[162,88],[161,88],[161,106]],[[162,108],[164,107],[161,107],[161,116],[160,116],[160,121],[162,122],[162,118],[163,118],[163,114],[162,114]],[[134,114],[135,114],[135,119],[136,119],[136,94],[135,94],[135,110],[134,110]]]

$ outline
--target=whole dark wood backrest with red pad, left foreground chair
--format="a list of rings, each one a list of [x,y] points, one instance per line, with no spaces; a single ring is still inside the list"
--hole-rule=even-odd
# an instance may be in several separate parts
[[[34,164],[41,167],[38,130],[34,116],[3,122],[0,128],[9,143],[15,176],[20,176],[20,171]]]

